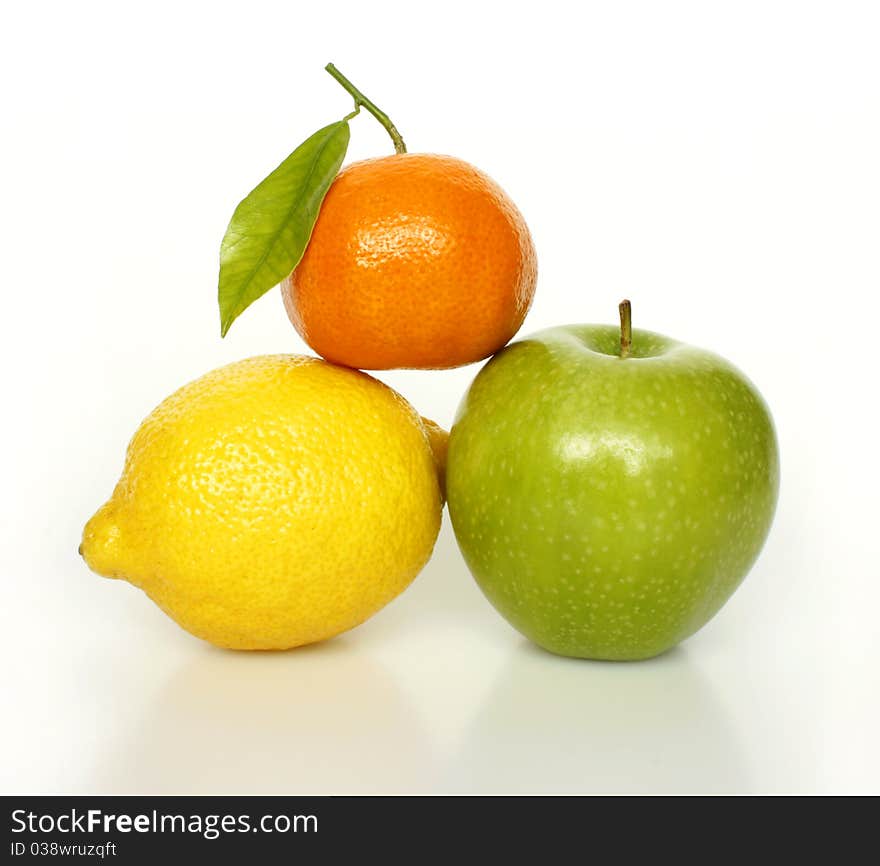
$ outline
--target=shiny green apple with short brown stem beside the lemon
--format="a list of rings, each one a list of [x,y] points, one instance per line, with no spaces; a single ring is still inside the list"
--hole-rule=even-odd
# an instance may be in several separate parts
[[[477,583],[552,652],[644,659],[708,622],[761,550],[779,455],[755,386],[650,331],[512,343],[465,395],[447,496]]]

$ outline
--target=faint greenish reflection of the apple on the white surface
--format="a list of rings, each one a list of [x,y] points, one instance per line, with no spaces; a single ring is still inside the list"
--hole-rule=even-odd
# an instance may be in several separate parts
[[[460,793],[723,793],[749,787],[736,731],[676,649],[640,663],[521,643],[448,764]]]

